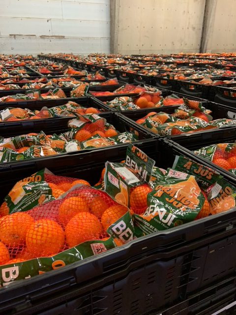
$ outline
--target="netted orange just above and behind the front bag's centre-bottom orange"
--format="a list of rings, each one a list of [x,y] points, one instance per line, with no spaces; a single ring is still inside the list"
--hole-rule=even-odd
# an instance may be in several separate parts
[[[79,212],[89,212],[89,205],[82,196],[65,198],[59,206],[59,221],[66,225]]]

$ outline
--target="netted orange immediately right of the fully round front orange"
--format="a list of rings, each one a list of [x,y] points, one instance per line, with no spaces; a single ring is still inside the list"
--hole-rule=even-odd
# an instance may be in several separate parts
[[[66,243],[69,247],[99,239],[101,234],[101,223],[89,212],[78,213],[68,222],[65,228]]]

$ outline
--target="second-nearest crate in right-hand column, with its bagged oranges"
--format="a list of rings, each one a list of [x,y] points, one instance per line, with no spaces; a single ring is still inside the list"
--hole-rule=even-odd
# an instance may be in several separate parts
[[[211,135],[217,129],[235,128],[236,120],[231,108],[213,102],[183,100],[184,105],[177,108],[163,106],[143,111],[125,111],[118,115],[125,116],[130,122],[135,121],[153,134],[173,137],[175,141],[186,136],[191,138],[196,132]]]

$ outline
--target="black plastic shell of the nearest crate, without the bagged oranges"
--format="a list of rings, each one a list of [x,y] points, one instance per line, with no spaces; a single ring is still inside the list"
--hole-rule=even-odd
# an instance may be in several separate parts
[[[150,140],[138,147],[163,168],[172,166],[176,155],[199,161],[165,140]],[[16,167],[6,165],[0,170],[0,187],[7,190],[19,178],[45,166],[55,174],[87,179],[94,184],[105,161],[120,161],[125,152],[126,147],[122,146],[50,158],[47,162],[44,159],[28,161],[28,165],[22,161]],[[232,209],[5,286],[0,289],[0,314],[160,314],[191,298],[190,294],[201,288],[217,287],[220,280],[226,280],[225,288],[232,285],[229,278],[235,276],[235,243],[236,209]],[[232,290],[228,289],[228,296],[231,301]],[[201,299],[193,299],[191,305],[198,301]]]

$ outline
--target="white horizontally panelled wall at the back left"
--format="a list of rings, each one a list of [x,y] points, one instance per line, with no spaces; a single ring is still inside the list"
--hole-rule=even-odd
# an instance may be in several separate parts
[[[0,0],[1,54],[109,51],[109,0]]]

